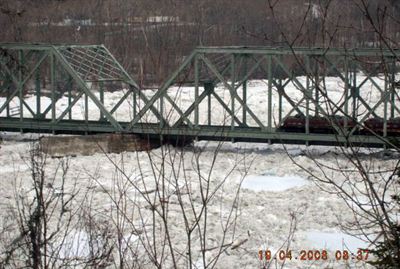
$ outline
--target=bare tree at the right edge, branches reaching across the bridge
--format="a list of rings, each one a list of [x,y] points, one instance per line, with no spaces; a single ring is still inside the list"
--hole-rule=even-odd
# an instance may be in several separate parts
[[[298,21],[298,31],[293,37],[292,32],[286,32],[285,26],[280,21],[278,12],[279,1],[268,0],[270,12],[273,14],[275,22],[280,25],[281,36],[283,37],[286,46],[293,48],[299,44],[299,38],[304,34],[307,28],[307,17],[312,12],[311,5],[317,5],[320,16],[318,27],[319,30],[315,33],[316,37],[321,38],[321,41],[315,39],[312,44],[323,46],[329,50],[332,47],[333,40],[337,38],[337,34],[342,31],[344,26],[332,19],[330,15],[329,6],[334,1],[317,1],[311,3],[304,13],[303,19]],[[336,1],[337,2],[337,1]],[[390,9],[391,6],[388,2],[377,3],[374,1],[350,1],[350,5],[357,7],[356,11],[363,15],[361,23],[363,27],[358,34],[372,31],[376,39],[372,42],[377,44],[379,48],[385,50],[392,50],[397,48],[398,42],[393,38],[393,32],[388,29],[397,29],[399,27],[398,21],[394,19],[396,8]],[[383,1],[382,1],[383,2]],[[393,3],[392,3],[393,4]],[[330,28],[329,25],[333,25]],[[350,27],[351,31],[358,31],[354,26]],[[368,30],[366,30],[368,28]],[[328,42],[323,38],[327,34]],[[347,44],[345,45],[347,47]],[[353,45],[355,46],[355,44]],[[320,85],[315,81],[315,75],[307,72],[305,66],[298,60],[294,54],[299,65],[303,68],[303,74],[306,74],[310,81],[316,85],[316,91],[319,91],[323,96],[324,102],[327,104],[328,111],[334,111],[336,107],[334,102],[326,95],[327,88],[325,84]],[[393,54],[396,57],[396,54]],[[384,57],[382,62],[385,63]],[[398,60],[398,59],[396,59]],[[387,70],[383,70],[386,77],[389,75]],[[393,81],[392,83],[395,83]],[[351,115],[344,115],[345,117],[357,118]],[[331,121],[334,124],[334,120]],[[361,126],[360,123],[356,123]],[[383,141],[387,142],[387,146],[392,150],[384,151],[379,156],[376,150],[362,150],[354,146],[348,141],[347,147],[339,147],[339,156],[335,157],[334,164],[325,162],[323,159],[315,156],[312,151],[306,153],[306,157],[314,164],[313,168],[305,167],[302,163],[291,157],[294,164],[299,166],[307,172],[315,183],[322,190],[338,195],[342,201],[347,205],[349,210],[353,213],[352,219],[344,219],[340,212],[337,213],[338,223],[341,228],[350,234],[359,236],[367,240],[370,247],[375,253],[375,260],[371,262],[377,268],[397,268],[399,263],[399,249],[400,249],[400,233],[398,222],[399,211],[399,145],[396,141],[388,140],[382,134],[371,130],[367,127],[371,135],[377,136]],[[345,134],[346,130],[342,128],[341,134]],[[386,154],[386,157],[385,155]],[[290,156],[290,155],[289,155]],[[376,158],[378,157],[378,159]],[[379,158],[386,158],[386,161],[379,161]],[[361,255],[363,255],[362,251]]]

